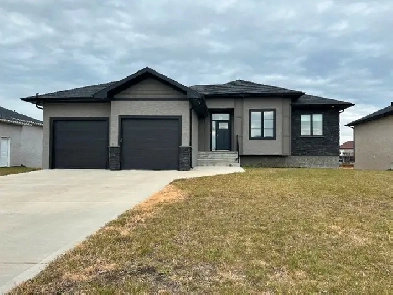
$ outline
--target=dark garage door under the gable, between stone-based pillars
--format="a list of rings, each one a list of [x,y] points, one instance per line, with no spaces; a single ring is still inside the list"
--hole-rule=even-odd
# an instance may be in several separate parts
[[[178,170],[179,117],[131,117],[121,120],[121,168]]]

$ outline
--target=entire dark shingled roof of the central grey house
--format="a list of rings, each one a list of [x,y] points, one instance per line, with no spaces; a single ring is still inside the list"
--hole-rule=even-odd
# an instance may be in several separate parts
[[[152,75],[165,84],[178,89],[187,94],[187,97],[193,104],[194,108],[200,110],[200,112],[206,112],[207,107],[204,97],[291,97],[294,101],[293,104],[297,106],[322,106],[322,105],[334,105],[339,106],[341,109],[353,106],[352,103],[339,101],[335,99],[328,99],[319,96],[307,95],[302,91],[296,91],[277,86],[270,86],[264,84],[258,84],[245,80],[235,80],[225,84],[214,84],[214,85],[195,85],[195,86],[184,86],[175,80],[162,75],[151,68],[144,68],[133,75],[130,75],[122,80],[113,81],[105,84],[97,84],[85,87],[74,88],[65,91],[58,91],[52,93],[46,93],[36,96],[29,96],[22,98],[22,100],[32,103],[40,103],[44,100],[53,101],[74,101],[74,100],[85,100],[85,101],[97,101],[103,100],[110,97],[116,91],[124,90],[138,83],[143,77]]]

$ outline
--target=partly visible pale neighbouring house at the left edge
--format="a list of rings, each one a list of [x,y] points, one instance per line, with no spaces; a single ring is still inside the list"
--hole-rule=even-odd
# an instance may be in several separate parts
[[[42,122],[0,107],[0,167],[42,167]]]

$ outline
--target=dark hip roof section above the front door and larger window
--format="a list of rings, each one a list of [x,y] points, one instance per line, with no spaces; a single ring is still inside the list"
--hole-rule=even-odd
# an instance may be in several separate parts
[[[244,95],[302,95],[304,92],[291,89],[257,84],[245,80],[235,80],[225,84],[195,85],[192,89],[204,94],[205,96],[244,96]]]

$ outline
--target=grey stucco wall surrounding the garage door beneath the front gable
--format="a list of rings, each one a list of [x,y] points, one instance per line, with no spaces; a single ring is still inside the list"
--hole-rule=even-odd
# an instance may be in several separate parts
[[[184,101],[112,101],[110,145],[118,145],[119,116],[181,116],[182,145],[190,144],[190,103]]]

